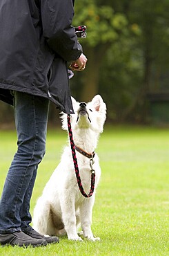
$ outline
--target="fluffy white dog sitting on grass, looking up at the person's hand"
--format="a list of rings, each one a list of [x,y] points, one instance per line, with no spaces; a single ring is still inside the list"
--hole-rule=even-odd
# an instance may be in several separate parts
[[[92,155],[97,147],[99,134],[106,120],[106,104],[100,95],[91,102],[77,102],[72,98],[75,114],[71,117],[74,144],[84,154]],[[63,114],[62,127],[68,131],[67,115]],[[83,190],[90,192],[91,169],[95,170],[95,190],[101,175],[99,158],[95,154],[95,163],[76,150],[77,163]],[[54,170],[34,208],[34,229],[43,235],[68,235],[68,239],[79,240],[77,226],[81,223],[83,236],[92,241],[99,240],[92,234],[92,208],[95,202],[95,190],[90,198],[84,197],[77,184],[72,160],[72,150],[66,147],[61,162]]]

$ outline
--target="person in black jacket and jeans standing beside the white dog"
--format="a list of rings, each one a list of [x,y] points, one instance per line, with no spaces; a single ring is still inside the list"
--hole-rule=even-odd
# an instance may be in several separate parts
[[[14,106],[17,152],[0,201],[0,244],[41,246],[30,226],[30,199],[46,152],[48,107],[52,101],[73,114],[68,62],[83,71],[87,58],[72,27],[72,0],[0,1],[0,100]]]

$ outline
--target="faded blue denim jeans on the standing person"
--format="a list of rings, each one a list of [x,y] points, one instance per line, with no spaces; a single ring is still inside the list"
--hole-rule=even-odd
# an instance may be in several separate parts
[[[14,155],[0,201],[0,233],[31,230],[30,198],[37,167],[46,150],[49,101],[14,91],[17,153]]]

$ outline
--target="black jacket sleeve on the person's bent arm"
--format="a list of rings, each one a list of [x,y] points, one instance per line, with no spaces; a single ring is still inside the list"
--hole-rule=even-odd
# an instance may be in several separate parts
[[[43,36],[48,45],[63,60],[77,60],[82,47],[71,26],[74,16],[72,0],[41,0]]]

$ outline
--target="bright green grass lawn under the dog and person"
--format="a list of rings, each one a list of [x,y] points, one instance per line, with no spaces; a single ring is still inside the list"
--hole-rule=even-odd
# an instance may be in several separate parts
[[[16,150],[12,131],[0,131],[0,188]],[[31,201],[31,212],[67,143],[64,131],[48,131],[46,156]],[[45,248],[0,247],[0,255],[169,255],[169,130],[106,127],[97,147],[101,181],[92,230],[101,241],[60,239]]]

